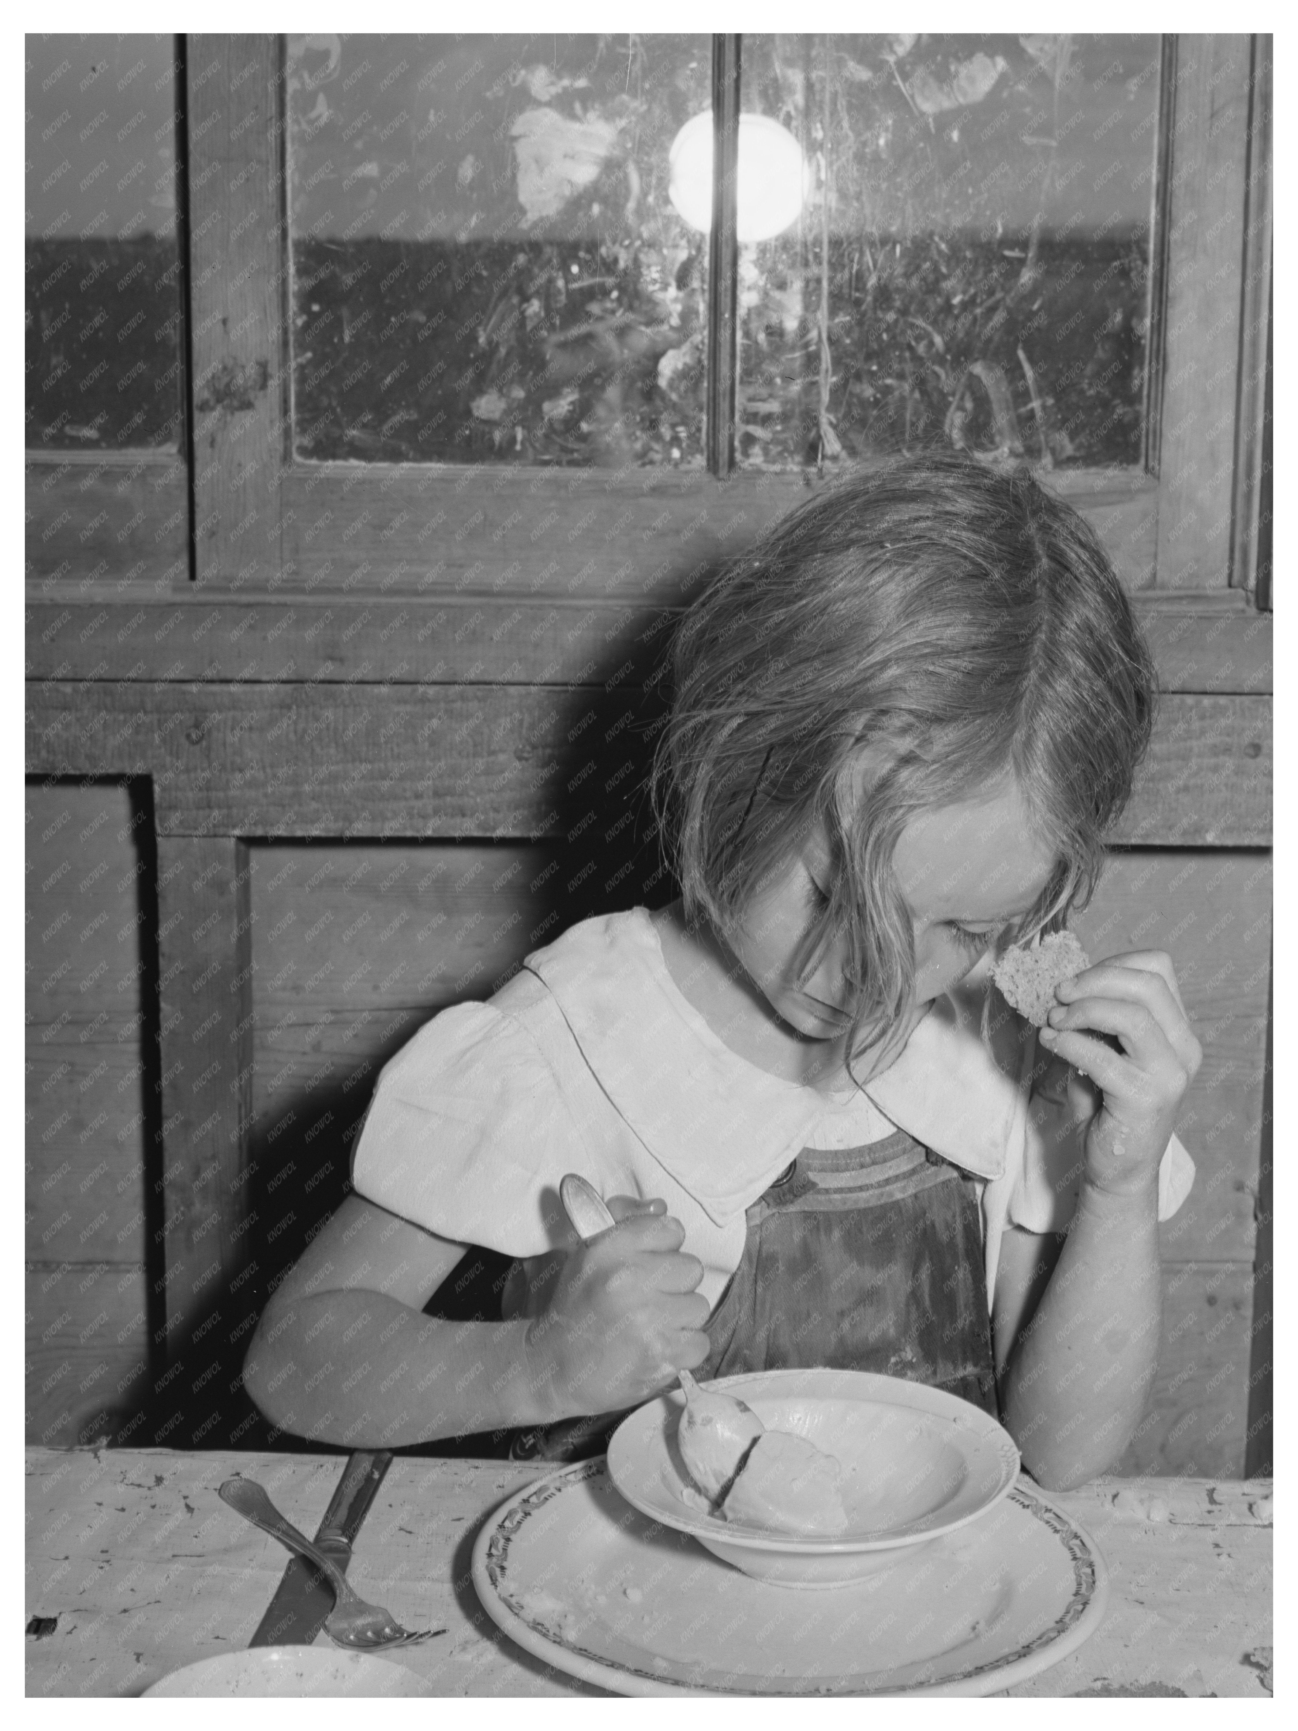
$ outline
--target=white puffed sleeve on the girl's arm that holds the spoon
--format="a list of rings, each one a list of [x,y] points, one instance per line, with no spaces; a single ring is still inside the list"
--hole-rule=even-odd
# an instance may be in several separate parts
[[[384,1065],[351,1182],[440,1238],[535,1257],[571,1241],[557,1184],[578,1141],[528,1030],[453,1004]]]

